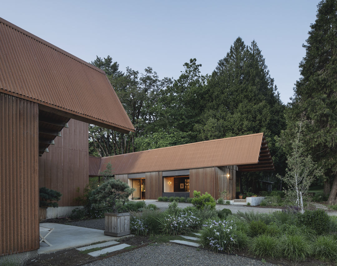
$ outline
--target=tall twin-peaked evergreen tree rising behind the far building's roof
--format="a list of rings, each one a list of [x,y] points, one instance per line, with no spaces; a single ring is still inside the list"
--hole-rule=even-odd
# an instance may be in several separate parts
[[[285,125],[284,105],[256,42],[248,47],[238,37],[207,87],[208,108],[202,123],[195,126],[200,140],[264,132],[276,169],[282,173],[284,155],[275,148],[274,137]],[[251,181],[259,178],[250,176]]]

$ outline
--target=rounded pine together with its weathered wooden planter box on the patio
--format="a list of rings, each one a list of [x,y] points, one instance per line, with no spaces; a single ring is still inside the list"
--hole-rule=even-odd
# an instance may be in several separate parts
[[[134,188],[119,179],[110,179],[92,191],[91,200],[96,209],[106,210],[104,235],[124,236],[130,234],[130,213],[118,213],[116,204],[125,202]]]

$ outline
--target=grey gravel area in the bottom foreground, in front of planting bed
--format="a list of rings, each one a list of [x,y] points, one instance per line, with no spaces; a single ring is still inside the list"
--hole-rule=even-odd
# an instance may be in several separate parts
[[[258,260],[240,256],[232,256],[210,252],[171,243],[155,244],[138,248],[107,259],[87,264],[90,266],[107,265],[232,265],[232,266],[257,266],[275,264],[263,263]]]

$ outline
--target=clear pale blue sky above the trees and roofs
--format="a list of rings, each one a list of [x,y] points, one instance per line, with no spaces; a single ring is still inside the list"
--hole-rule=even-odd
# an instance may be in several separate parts
[[[255,39],[287,103],[318,2],[0,0],[0,17],[85,61],[110,55],[160,78],[178,78],[190,58],[211,74],[238,36]]]

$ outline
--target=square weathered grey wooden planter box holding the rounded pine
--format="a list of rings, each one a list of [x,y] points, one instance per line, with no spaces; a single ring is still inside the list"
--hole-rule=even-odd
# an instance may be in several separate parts
[[[104,213],[105,231],[107,236],[130,235],[130,213]]]

